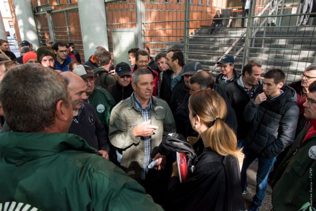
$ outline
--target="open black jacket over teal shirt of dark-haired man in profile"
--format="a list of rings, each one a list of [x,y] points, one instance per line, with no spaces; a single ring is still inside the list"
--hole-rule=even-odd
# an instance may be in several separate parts
[[[171,75],[172,74],[173,74],[173,72],[169,69],[162,72],[162,82],[160,85],[159,98],[162,98],[166,102],[169,102],[170,97],[171,97],[171,92],[172,92],[172,90],[171,90]],[[176,84],[174,89],[183,83],[184,83],[184,79],[182,77],[181,80]]]

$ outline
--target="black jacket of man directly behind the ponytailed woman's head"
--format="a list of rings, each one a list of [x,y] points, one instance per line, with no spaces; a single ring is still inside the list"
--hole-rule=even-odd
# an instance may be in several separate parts
[[[190,120],[189,120],[189,97],[190,93],[187,93],[182,104],[177,108],[174,113],[174,118],[177,126],[177,132],[187,136],[197,136],[196,132],[192,129]],[[225,99],[224,99],[225,100]],[[232,106],[225,100],[227,106],[227,116],[226,124],[237,132],[237,118],[234,109]]]

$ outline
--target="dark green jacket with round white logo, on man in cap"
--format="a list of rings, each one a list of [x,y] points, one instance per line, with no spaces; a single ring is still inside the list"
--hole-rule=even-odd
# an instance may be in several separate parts
[[[95,86],[86,102],[96,109],[97,115],[107,131],[111,110],[116,105],[112,95],[104,88]]]

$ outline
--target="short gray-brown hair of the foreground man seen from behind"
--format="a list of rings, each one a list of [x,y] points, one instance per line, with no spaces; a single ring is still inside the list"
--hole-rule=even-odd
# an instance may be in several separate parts
[[[12,68],[0,84],[4,118],[13,131],[39,132],[52,126],[58,100],[70,106],[63,78],[38,64]]]

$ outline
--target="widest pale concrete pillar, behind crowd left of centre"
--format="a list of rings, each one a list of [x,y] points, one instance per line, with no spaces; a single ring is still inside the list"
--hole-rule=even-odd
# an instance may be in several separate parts
[[[105,1],[78,0],[84,59],[94,54],[97,46],[108,51]]]

